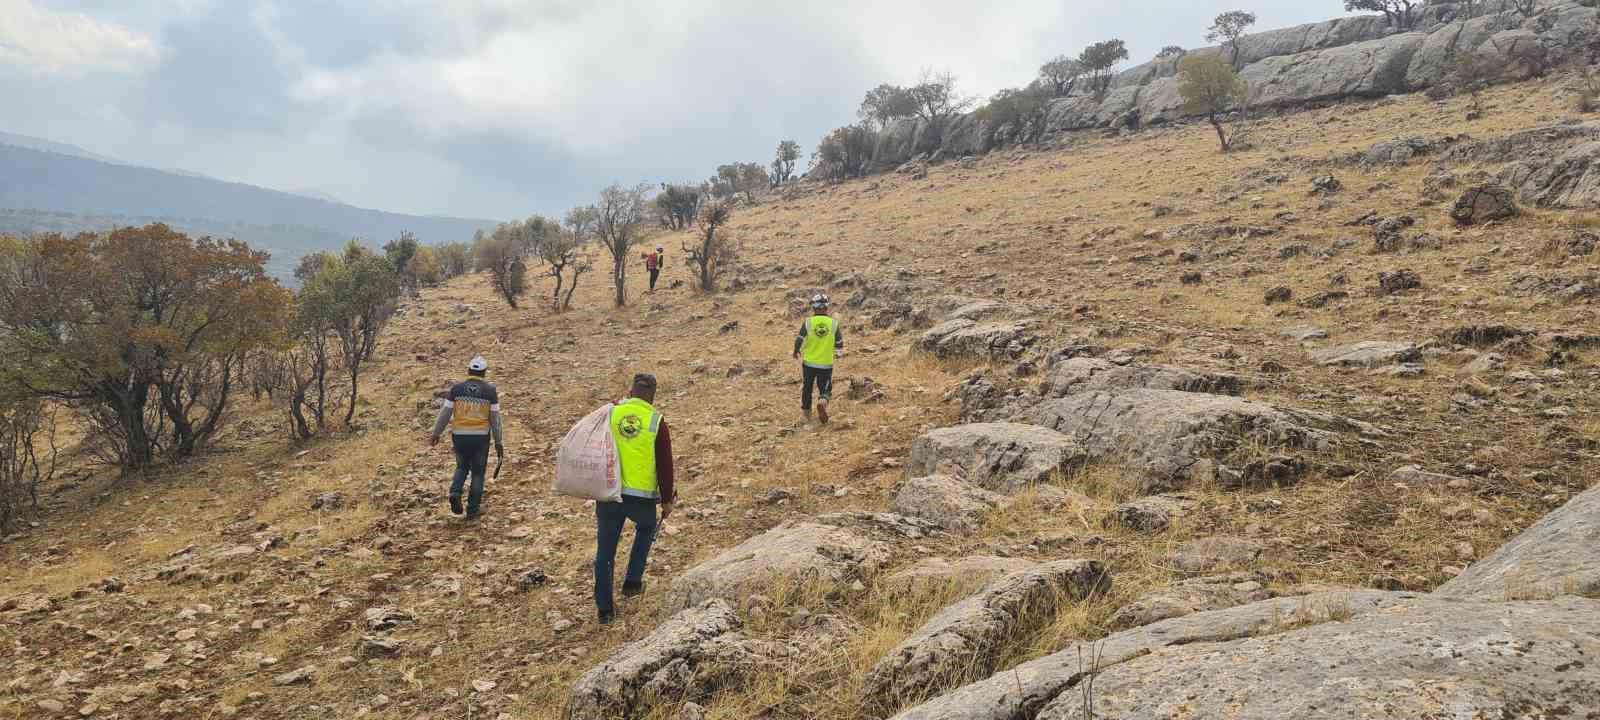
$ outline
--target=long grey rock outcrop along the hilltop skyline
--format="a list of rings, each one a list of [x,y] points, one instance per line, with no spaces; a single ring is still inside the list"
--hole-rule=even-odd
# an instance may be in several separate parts
[[[1346,99],[1418,93],[1446,83],[1462,56],[1482,58],[1498,80],[1525,80],[1565,64],[1592,42],[1600,10],[1586,0],[1539,0],[1525,16],[1507,3],[1435,2],[1418,10],[1416,27],[1397,32],[1381,14],[1341,18],[1245,35],[1240,77],[1253,110],[1301,109]],[[1190,53],[1219,53],[1202,48]],[[1123,70],[1104,98],[1078,94],[1051,101],[1046,131],[1163,125],[1184,118],[1178,94],[1182,58],[1154,59]],[[957,158],[1005,144],[1010,128],[973,112],[939,138],[926,123],[891,125],[874,152],[893,168],[918,154]]]

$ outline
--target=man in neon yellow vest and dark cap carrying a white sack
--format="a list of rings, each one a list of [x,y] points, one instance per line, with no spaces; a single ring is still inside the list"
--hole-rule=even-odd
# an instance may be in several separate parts
[[[622,525],[634,522],[634,549],[627,555],[622,597],[645,592],[645,562],[656,539],[656,506],[661,522],[672,515],[674,491],[672,435],[654,408],[656,376],[635,374],[627,400],[611,410],[611,437],[622,466],[622,501],[595,502],[595,610],[600,624],[616,618],[611,584],[616,581],[616,546]]]

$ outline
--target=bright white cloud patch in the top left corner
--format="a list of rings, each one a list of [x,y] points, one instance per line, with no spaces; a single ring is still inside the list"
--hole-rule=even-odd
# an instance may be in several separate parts
[[[0,0],[0,64],[35,74],[133,72],[158,58],[149,35],[83,13]]]

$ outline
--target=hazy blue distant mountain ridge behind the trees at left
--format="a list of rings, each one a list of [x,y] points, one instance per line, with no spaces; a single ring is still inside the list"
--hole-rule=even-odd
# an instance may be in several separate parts
[[[242,182],[123,165],[75,146],[14,134],[0,136],[0,208],[314,227],[330,237],[362,237],[376,243],[403,230],[416,234],[424,243],[470,240],[477,230],[498,224],[491,219],[386,213]],[[306,253],[328,248],[277,250]]]

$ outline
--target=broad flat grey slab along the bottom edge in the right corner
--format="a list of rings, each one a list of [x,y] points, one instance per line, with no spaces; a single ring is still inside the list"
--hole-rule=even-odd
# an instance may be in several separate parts
[[[1094,678],[1096,718],[1554,718],[1600,714],[1600,602],[1418,602],[1166,646]],[[1037,720],[1088,720],[1059,693]]]

